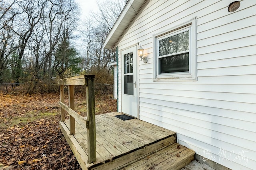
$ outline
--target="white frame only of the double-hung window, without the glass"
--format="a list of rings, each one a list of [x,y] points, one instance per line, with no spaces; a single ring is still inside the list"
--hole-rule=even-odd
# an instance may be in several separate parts
[[[158,42],[167,37],[177,35],[184,31],[189,31],[189,71],[188,72],[172,72],[159,74],[159,47]],[[158,33],[153,36],[154,43],[154,81],[196,81],[196,18],[190,21],[172,27],[167,31]],[[184,53],[182,51],[181,53]],[[177,55],[176,53],[175,55]],[[174,54],[171,54],[174,55]],[[171,56],[168,55],[168,56]]]

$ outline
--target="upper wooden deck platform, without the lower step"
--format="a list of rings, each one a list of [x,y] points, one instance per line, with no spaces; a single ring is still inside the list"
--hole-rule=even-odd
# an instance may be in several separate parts
[[[96,115],[96,161],[87,159],[87,129],[76,122],[76,134],[69,134],[69,120],[60,128],[82,169],[114,169],[176,142],[176,133],[131,119],[114,117],[120,113]]]

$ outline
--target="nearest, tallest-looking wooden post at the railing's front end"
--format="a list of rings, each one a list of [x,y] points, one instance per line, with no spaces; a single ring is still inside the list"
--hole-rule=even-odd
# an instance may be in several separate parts
[[[95,123],[95,92],[94,77],[85,77],[86,100],[87,100],[87,142],[88,142],[88,162],[96,161],[96,123]]]

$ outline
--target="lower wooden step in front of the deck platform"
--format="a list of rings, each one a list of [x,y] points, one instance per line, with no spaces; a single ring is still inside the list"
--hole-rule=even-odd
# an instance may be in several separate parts
[[[174,143],[164,149],[158,150],[136,162],[126,164],[120,169],[122,170],[180,170],[192,160],[194,160],[195,152],[182,145]]]

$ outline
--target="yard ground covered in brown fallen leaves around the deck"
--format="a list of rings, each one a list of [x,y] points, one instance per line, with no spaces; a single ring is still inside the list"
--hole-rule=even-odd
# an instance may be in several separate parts
[[[75,97],[75,110],[81,115],[86,115],[84,96]],[[59,98],[0,92],[0,170],[81,169],[59,128]],[[113,111],[115,100],[96,96],[96,114]]]

